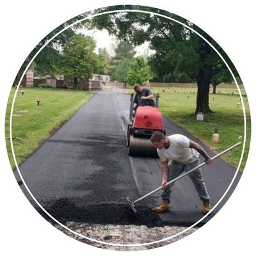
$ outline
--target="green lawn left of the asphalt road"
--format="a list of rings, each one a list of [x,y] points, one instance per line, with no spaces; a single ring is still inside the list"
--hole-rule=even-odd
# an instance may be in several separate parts
[[[81,90],[24,88],[17,94],[13,108],[12,138],[17,163],[20,164],[38,146],[87,102],[93,93]],[[15,168],[10,144],[10,113],[15,89],[12,88],[6,109],[6,147],[12,168]],[[37,106],[36,98],[40,98]]]

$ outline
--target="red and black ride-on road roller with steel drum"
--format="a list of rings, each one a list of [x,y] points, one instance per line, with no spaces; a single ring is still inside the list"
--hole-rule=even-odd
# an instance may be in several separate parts
[[[162,131],[163,116],[158,108],[159,93],[156,95],[156,106],[138,106],[133,109],[134,95],[131,94],[130,124],[127,127],[127,147],[129,156],[157,157],[157,150],[150,141],[155,131]]]

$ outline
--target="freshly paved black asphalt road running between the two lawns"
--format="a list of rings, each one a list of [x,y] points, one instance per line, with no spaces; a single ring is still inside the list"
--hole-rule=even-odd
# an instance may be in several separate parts
[[[188,227],[199,220],[198,225],[204,225],[227,202],[241,173],[235,177],[236,168],[221,158],[203,167],[211,205],[218,204],[206,218],[202,213],[202,202],[188,177],[173,186],[170,212],[156,214],[152,211],[161,200],[159,192],[136,205],[138,214],[134,215],[127,205],[126,196],[136,200],[159,187],[161,170],[157,158],[128,156],[125,139],[128,118],[129,95],[124,91],[115,88],[96,93],[20,164],[24,179],[20,188],[31,204],[47,220],[51,221],[51,218],[42,208],[64,225],[67,221],[75,221],[102,225]],[[164,127],[168,135],[180,133],[200,143],[166,118]],[[214,156],[209,148],[202,147]],[[17,175],[17,171],[15,173]]]

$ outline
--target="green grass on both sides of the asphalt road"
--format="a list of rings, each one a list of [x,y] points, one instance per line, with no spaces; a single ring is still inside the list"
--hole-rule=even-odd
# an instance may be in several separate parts
[[[24,88],[24,95],[17,95],[12,119],[12,136],[15,158],[20,164],[28,157],[53,131],[58,129],[63,122],[68,120],[77,109],[87,102],[93,93],[76,90],[58,90],[53,88]],[[165,92],[163,92],[165,90]],[[133,90],[125,89],[131,93]],[[221,91],[221,94],[218,92]],[[244,118],[237,90],[220,89],[216,95],[209,95],[210,108],[214,113],[204,116],[204,121],[196,121],[194,112],[196,106],[195,88],[152,88],[152,92],[160,93],[159,108],[164,116],[167,116],[176,124],[184,127],[195,137],[208,145],[213,151],[221,152],[223,149],[233,145],[238,141],[238,136],[244,134]],[[230,97],[229,93],[234,92]],[[12,106],[14,88],[10,93],[8,107],[6,109],[6,147],[8,156],[15,168],[12,150],[10,146],[10,111]],[[246,108],[246,147],[244,150],[241,169],[244,169],[248,150],[250,147],[250,111],[246,95],[242,90],[244,106]],[[188,97],[189,96],[189,97]],[[36,104],[36,98],[40,97],[40,106]],[[214,99],[213,99],[214,97]],[[27,112],[20,112],[20,111]],[[220,143],[211,142],[212,131],[218,127],[220,133]],[[241,157],[242,147],[232,150],[223,158],[228,163],[237,166]]]

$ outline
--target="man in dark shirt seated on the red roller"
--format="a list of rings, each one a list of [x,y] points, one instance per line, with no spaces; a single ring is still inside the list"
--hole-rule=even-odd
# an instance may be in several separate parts
[[[133,90],[136,92],[134,97],[133,109],[136,110],[138,106],[153,106],[155,102],[153,100],[152,92],[147,88],[142,88],[140,84],[134,84]]]

